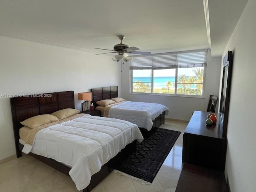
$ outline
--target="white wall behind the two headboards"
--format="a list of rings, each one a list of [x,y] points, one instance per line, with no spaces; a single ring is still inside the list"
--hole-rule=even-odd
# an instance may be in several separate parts
[[[73,90],[81,110],[78,92],[114,85],[121,95],[121,66],[108,56],[0,36],[0,160],[16,153],[10,98],[2,94]]]

